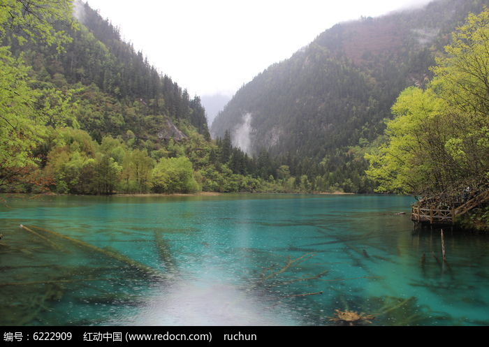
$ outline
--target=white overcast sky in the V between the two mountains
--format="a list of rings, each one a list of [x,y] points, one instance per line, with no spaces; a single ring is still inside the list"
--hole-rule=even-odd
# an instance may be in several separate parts
[[[234,94],[338,22],[430,0],[87,0],[191,96]]]

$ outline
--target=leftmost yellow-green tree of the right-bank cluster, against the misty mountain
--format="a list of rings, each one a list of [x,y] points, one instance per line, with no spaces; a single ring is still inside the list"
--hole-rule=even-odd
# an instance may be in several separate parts
[[[437,118],[444,109],[443,101],[431,90],[408,88],[400,94],[393,106],[395,119],[388,121],[387,142],[367,154],[370,169],[367,175],[378,184],[379,192],[421,193],[432,184],[433,128],[430,119]]]

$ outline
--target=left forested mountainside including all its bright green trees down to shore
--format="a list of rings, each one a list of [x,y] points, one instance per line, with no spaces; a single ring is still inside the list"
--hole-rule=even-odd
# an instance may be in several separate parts
[[[76,19],[73,17],[76,15]],[[0,1],[0,192],[312,191],[78,0]]]

